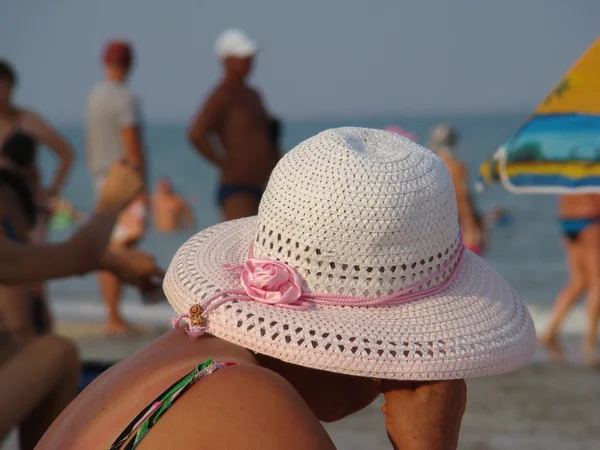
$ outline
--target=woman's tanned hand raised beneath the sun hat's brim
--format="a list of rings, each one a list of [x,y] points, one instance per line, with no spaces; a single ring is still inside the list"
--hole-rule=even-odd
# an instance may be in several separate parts
[[[456,450],[467,405],[464,380],[381,380],[388,437],[397,450]]]

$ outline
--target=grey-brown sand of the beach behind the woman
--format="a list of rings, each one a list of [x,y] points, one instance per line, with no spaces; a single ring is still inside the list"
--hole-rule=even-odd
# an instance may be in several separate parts
[[[63,322],[57,332],[77,342],[86,360],[114,360],[131,355],[158,338],[165,328],[135,338],[104,338],[94,322]],[[574,337],[566,348],[577,349]],[[600,370],[567,363],[533,363],[507,375],[468,381],[468,406],[461,450],[597,450],[600,448]],[[390,449],[380,412],[383,400],[326,428],[340,450]],[[0,450],[17,450],[11,436]]]

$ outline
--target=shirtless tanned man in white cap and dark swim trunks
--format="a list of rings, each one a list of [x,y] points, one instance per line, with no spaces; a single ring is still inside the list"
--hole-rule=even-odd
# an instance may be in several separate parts
[[[257,45],[232,29],[217,38],[215,47],[223,78],[193,119],[188,139],[219,169],[217,203],[224,219],[232,220],[257,213],[278,151],[262,96],[247,83]]]

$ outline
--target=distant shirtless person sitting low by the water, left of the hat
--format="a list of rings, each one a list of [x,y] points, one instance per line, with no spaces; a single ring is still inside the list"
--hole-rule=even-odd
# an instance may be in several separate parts
[[[171,180],[166,177],[156,182],[152,196],[152,214],[154,226],[161,233],[196,226],[192,208],[173,190]]]

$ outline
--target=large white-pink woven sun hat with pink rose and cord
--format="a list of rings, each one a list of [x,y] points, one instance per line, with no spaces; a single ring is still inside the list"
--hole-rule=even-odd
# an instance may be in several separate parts
[[[192,237],[164,288],[191,335],[331,372],[476,377],[517,369],[535,347],[515,291],[462,245],[444,163],[382,130],[299,144],[258,216]]]

